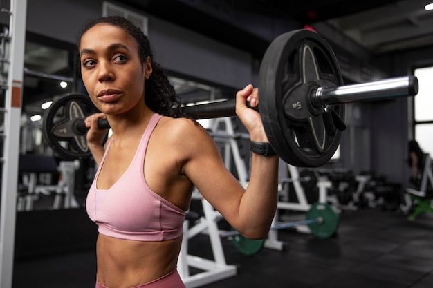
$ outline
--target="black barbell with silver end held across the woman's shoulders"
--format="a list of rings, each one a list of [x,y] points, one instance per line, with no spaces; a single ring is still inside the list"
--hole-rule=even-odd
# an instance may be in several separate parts
[[[259,113],[277,155],[293,166],[328,162],[342,138],[344,104],[418,93],[418,79],[395,77],[343,86],[338,61],[329,44],[311,30],[293,30],[275,38],[259,70]],[[236,115],[235,100],[185,106],[194,119]],[[44,115],[43,133],[60,157],[90,157],[84,117],[97,109],[86,95],[57,100]],[[100,127],[108,128],[100,120]]]

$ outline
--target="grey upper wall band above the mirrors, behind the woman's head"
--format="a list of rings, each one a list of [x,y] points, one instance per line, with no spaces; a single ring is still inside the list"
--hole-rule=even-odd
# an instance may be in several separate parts
[[[102,2],[28,1],[27,29],[75,44],[77,33],[86,20],[102,15]],[[232,88],[243,88],[252,81],[252,57],[248,53],[125,7],[148,17],[148,36],[156,61],[165,69]]]

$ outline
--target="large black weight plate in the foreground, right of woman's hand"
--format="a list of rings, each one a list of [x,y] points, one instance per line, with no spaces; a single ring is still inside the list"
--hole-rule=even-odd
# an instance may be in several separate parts
[[[340,144],[344,104],[315,107],[317,88],[342,86],[338,61],[327,42],[310,30],[294,30],[268,47],[259,72],[260,115],[279,157],[293,166],[326,164]]]

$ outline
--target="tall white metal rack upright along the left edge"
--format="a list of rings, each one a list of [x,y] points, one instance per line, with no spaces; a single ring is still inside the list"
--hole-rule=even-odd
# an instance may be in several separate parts
[[[0,287],[11,288],[27,1],[11,0],[0,8],[9,17],[0,34]]]

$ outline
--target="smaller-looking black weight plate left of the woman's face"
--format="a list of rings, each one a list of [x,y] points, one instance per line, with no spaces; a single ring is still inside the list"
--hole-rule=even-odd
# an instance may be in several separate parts
[[[86,131],[79,128],[87,115],[98,112],[89,96],[68,94],[45,111],[42,133],[48,145],[62,159],[75,160],[91,156]]]

